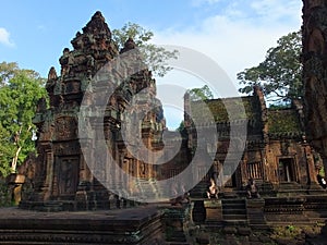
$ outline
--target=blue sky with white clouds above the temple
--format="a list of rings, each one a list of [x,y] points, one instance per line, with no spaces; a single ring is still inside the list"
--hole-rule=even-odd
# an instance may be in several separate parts
[[[300,0],[2,1],[0,62],[17,62],[47,76],[50,66],[59,70],[63,48],[71,48],[76,32],[100,10],[110,28],[134,22],[152,29],[156,44],[205,53],[237,84],[238,72],[263,61],[279,37],[300,29],[301,8]],[[185,87],[196,84],[185,77],[168,79]]]

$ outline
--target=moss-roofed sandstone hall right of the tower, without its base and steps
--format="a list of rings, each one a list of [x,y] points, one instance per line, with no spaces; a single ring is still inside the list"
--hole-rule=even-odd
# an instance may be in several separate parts
[[[305,138],[301,103],[294,101],[292,108],[289,109],[268,109],[258,87],[254,88],[253,96],[241,99],[245,114],[240,114],[234,122],[229,120],[225,105],[235,103],[235,99],[206,101],[216,120],[219,140],[214,166],[207,173],[205,182],[208,183],[210,175],[218,169],[221,180],[228,180],[220,189],[226,194],[230,192],[237,194],[238,191],[242,193],[251,177],[261,185],[261,192],[268,196],[277,194],[280,196],[283,192],[289,194],[290,189],[295,191],[294,195],[308,189],[315,192],[314,189],[317,188],[316,166],[318,164],[315,161],[318,158],[315,157],[316,154]],[[201,117],[201,110],[197,110],[198,103],[186,100],[185,105],[187,103],[192,108],[191,118]],[[189,117],[185,120],[189,120]],[[237,159],[227,162],[226,156],[230,149],[230,123],[241,123],[244,120],[249,121],[247,139],[242,159],[240,162]],[[185,125],[191,125],[191,123],[185,123]],[[206,122],[202,126],[206,126]],[[187,132],[190,134],[189,147],[192,148],[197,140],[196,130],[187,126]],[[225,166],[235,169],[233,174],[230,174]],[[198,173],[195,174],[203,174],[201,167]]]

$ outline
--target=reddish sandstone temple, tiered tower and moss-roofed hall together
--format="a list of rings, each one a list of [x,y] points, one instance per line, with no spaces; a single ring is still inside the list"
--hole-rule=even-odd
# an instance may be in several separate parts
[[[158,152],[164,147],[164,134],[169,135],[170,140],[165,142],[165,147],[173,148],[179,133],[168,132],[166,128],[164,110],[156,98],[156,83],[146,66],[123,79],[120,71],[106,66],[114,62],[119,54],[135,49],[136,45],[130,38],[124,48],[118,50],[100,12],[95,13],[82,33],[77,32],[71,44],[73,50],[64,48],[59,59],[60,75],[55,68],[49,71],[46,84],[50,98],[49,107],[45,99],[40,100],[34,119],[38,127],[38,156],[33,163],[33,174],[29,171],[27,177],[33,188],[25,187],[27,191],[20,205],[22,208],[112,209],[135,205],[135,201],[132,201],[133,195],[135,197],[141,193],[154,195],[159,200],[160,193],[165,189],[156,185],[156,182],[177,175],[191,161],[195,161],[196,168],[193,168],[190,180],[201,180],[190,192],[193,198],[204,197],[207,183],[215,174],[216,179],[220,180],[221,197],[243,198],[249,179],[256,181],[261,193],[266,197],[323,192],[317,184],[322,160],[307,143],[303,106],[300,101],[293,101],[291,108],[269,109],[266,107],[259,87],[254,87],[253,96],[206,100],[205,103],[214,115],[218,135],[217,144],[209,149],[205,144],[197,144],[198,128],[192,123],[193,119],[203,118],[201,103],[190,100],[186,94],[184,97],[185,130],[178,154],[172,159],[166,156],[167,161],[164,156],[160,160],[164,159],[165,164],[147,164],[149,156],[143,154],[141,157],[143,150],[138,147],[141,142],[148,150],[145,152]],[[128,64],[123,65],[131,68],[140,60],[142,60],[141,53],[136,51]],[[101,73],[102,68],[111,72]],[[119,84],[114,82],[120,79],[122,82]],[[97,98],[102,96],[106,86],[116,86],[116,88],[110,98],[107,98],[105,108],[100,108]],[[89,87],[93,87],[92,93],[87,90]],[[142,94],[144,89],[147,93],[146,98],[141,99],[141,103],[136,105],[142,107],[144,114],[137,115],[133,108],[131,109],[131,105],[135,102],[132,98]],[[225,106],[235,105],[237,100],[243,103],[245,113],[229,120]],[[92,113],[83,111],[81,108],[85,106],[94,108],[92,109],[94,111]],[[98,118],[95,115],[87,115],[85,121],[88,123],[81,126],[78,121],[81,113],[97,114],[100,110],[105,111],[100,118],[101,122],[97,122]],[[133,136],[137,135],[135,132],[123,127],[131,123],[131,117],[138,117],[137,123],[141,119],[141,124],[137,126],[141,131],[138,142],[137,137]],[[202,121],[198,126],[206,130],[209,125],[205,119]],[[99,123],[104,125],[100,133],[96,130]],[[244,123],[247,133],[245,148],[239,149],[238,145],[241,143],[232,147],[234,152],[242,151],[241,158],[227,158],[231,147],[231,125],[238,126]],[[106,150],[116,162],[110,170],[108,164],[106,167],[109,158],[101,154],[99,150],[101,145],[97,145],[99,143],[94,139],[95,134],[101,134],[101,131],[105,143],[102,145],[107,146]],[[138,151],[136,150],[138,156],[135,156],[126,145],[129,135],[129,144],[140,148]],[[203,159],[194,158],[195,149],[207,155],[214,154],[209,171]],[[85,151],[87,154],[83,155]],[[92,170],[89,163],[93,166]],[[123,170],[123,173],[118,170]],[[136,182],[129,182],[126,185],[124,173],[136,177]],[[106,184],[110,186],[110,191]]]

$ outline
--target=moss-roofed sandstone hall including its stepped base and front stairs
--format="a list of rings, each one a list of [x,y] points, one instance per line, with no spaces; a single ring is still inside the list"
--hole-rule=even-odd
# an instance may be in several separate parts
[[[205,150],[207,145],[195,145],[196,130],[211,126],[205,120],[195,128],[192,117],[202,117],[197,101],[185,97],[189,115],[185,125],[189,134],[189,152]],[[317,184],[318,155],[306,142],[303,108],[293,101],[291,108],[269,109],[263,93],[254,88],[254,95],[242,97],[245,114],[230,120],[226,105],[237,103],[240,98],[206,100],[214,114],[219,139],[211,169],[205,173],[204,162],[196,162],[194,175],[204,176],[190,192],[193,221],[208,226],[266,229],[282,222],[313,224],[327,218],[326,189]],[[187,122],[187,120],[190,120]],[[247,125],[247,138],[241,159],[227,160],[230,145],[230,124]],[[240,139],[241,140],[241,139]],[[194,159],[193,159],[194,160]],[[230,170],[231,169],[231,170]],[[235,169],[235,171],[232,171]],[[217,176],[218,199],[208,199],[206,189],[209,179]],[[246,198],[245,185],[255,180],[261,198]],[[233,233],[233,232],[231,232]]]

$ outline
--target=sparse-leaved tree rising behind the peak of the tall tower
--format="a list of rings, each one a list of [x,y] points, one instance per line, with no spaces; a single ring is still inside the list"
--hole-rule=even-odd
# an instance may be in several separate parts
[[[177,59],[178,51],[169,51],[162,47],[150,44],[154,33],[143,28],[135,23],[126,23],[120,29],[112,30],[112,39],[118,45],[119,49],[124,47],[125,41],[132,38],[140,50],[143,52],[146,64],[154,74],[164,76],[171,68],[167,64],[167,60]]]

